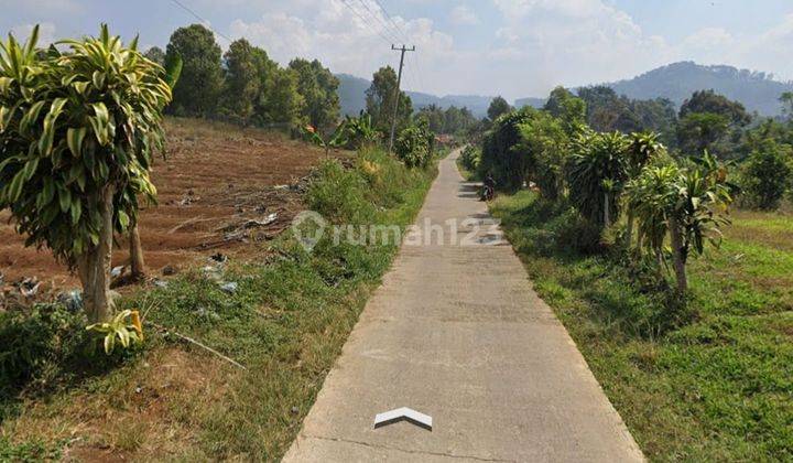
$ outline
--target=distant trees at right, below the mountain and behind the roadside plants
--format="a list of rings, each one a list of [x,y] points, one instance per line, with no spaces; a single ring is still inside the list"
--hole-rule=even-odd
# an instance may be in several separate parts
[[[772,209],[793,186],[793,94],[783,94],[780,104],[782,117],[761,118],[705,89],[677,110],[667,99],[631,99],[610,87],[591,86],[575,95],[557,87],[543,109],[563,120],[583,115],[580,123],[596,132],[654,132],[676,158],[713,154],[735,171],[740,205]]]

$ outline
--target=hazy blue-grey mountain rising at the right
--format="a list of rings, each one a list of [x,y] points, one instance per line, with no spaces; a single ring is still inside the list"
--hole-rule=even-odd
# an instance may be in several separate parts
[[[793,91],[793,83],[774,80],[773,75],[732,66],[704,66],[691,61],[662,66],[631,79],[602,84],[633,99],[666,98],[677,107],[696,90],[716,90],[738,100],[747,110],[761,116],[778,116],[779,97]],[[575,91],[575,89],[574,89]],[[515,106],[535,106],[539,98],[522,98]]]

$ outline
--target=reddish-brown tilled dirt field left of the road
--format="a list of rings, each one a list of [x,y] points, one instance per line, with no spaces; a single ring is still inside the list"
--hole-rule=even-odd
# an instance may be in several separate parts
[[[159,205],[144,207],[140,225],[151,276],[218,251],[252,252],[250,243],[289,225],[300,209],[301,179],[324,155],[280,133],[219,122],[169,119],[166,132],[167,158],[156,160],[153,173]],[[250,222],[265,222],[273,213],[278,219],[268,226]],[[48,250],[24,248],[8,218],[0,212],[0,272],[7,284],[36,277],[45,287],[77,286]],[[113,265],[128,258],[120,238]]]

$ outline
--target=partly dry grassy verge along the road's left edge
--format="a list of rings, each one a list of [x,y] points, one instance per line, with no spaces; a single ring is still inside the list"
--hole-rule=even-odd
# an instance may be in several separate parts
[[[307,207],[329,223],[404,227],[436,173],[435,166],[408,170],[374,150],[359,153],[355,164],[324,163],[306,194]],[[337,246],[325,234],[307,252],[285,233],[269,247],[265,261],[228,266],[222,281],[239,284],[232,294],[194,270],[121,303],[150,310],[148,322],[200,340],[247,370],[182,347],[173,336],[153,336],[137,362],[46,398],[23,400],[15,417],[0,426],[0,456],[57,452],[74,438],[73,429],[98,421],[101,437],[78,432],[77,445],[132,460],[165,454],[199,461],[280,459],[398,246]],[[171,359],[174,346],[197,358],[198,366]],[[171,390],[167,381],[156,383],[152,368],[161,366],[181,366],[185,372],[176,379],[195,387]],[[151,401],[146,394],[154,396]]]

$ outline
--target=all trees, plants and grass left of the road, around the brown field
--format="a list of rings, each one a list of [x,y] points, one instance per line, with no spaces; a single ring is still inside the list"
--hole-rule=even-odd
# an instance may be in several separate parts
[[[43,300],[39,283],[21,281],[2,293],[0,460],[278,460],[398,250],[357,225],[410,224],[445,148],[400,93],[410,110],[395,155],[383,150],[388,68],[370,111],[341,120],[335,78],[318,62],[281,69],[238,41],[220,67],[202,26],[145,54],[105,26],[68,42],[69,53],[37,49],[35,31],[0,51],[0,207],[29,246],[78,269],[84,290]],[[284,189],[328,225],[354,226],[351,243],[326,230],[306,248],[281,227],[249,243],[260,249],[248,259],[206,252],[203,268],[161,279],[146,274],[138,240],[142,284],[110,291],[113,244],[138,233],[139,202],[156,200],[150,168],[164,152],[164,112],[322,147],[313,173]],[[173,123],[188,130],[191,119]],[[198,201],[185,194],[178,204]]]

